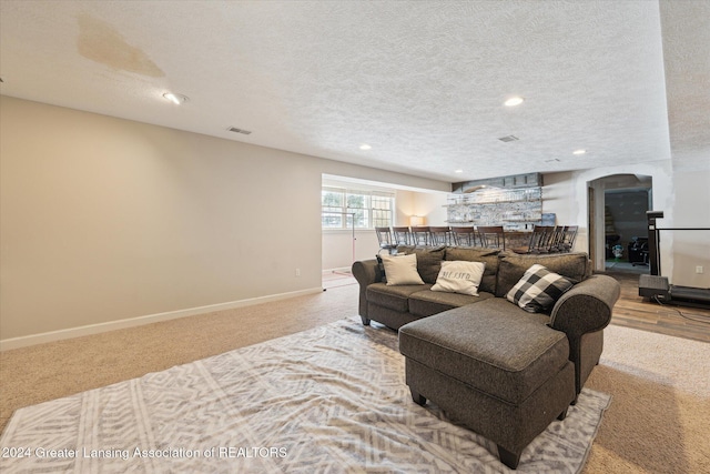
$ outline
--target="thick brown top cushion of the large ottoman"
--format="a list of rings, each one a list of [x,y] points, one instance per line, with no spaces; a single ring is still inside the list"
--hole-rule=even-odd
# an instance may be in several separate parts
[[[549,317],[491,297],[399,329],[399,351],[486,394],[519,404],[569,357]]]

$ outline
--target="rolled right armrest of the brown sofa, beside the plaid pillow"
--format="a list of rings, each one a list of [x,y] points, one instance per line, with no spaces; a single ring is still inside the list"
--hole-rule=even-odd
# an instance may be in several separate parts
[[[550,315],[550,326],[565,332],[570,340],[601,331],[611,321],[611,310],[620,292],[621,285],[611,276],[592,275],[557,301]]]

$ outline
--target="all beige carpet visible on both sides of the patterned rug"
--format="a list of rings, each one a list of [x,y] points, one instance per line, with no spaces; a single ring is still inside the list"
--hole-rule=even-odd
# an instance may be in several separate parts
[[[357,285],[0,353],[12,412],[357,314]],[[584,473],[710,472],[710,344],[610,325],[587,387],[612,403]]]

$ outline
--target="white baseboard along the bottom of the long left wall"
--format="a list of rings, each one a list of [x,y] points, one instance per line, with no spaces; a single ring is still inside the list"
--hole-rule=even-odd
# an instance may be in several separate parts
[[[213,311],[233,310],[235,307],[252,306],[254,304],[287,300],[290,297],[302,296],[305,294],[321,293],[321,292],[323,292],[323,289],[318,286],[317,289],[308,289],[308,290],[293,291],[288,293],[272,294],[268,296],[250,297],[247,300],[210,304],[206,306],[189,307],[186,310],[149,314],[146,316],[130,317],[128,320],[110,321],[106,323],[89,324],[85,326],[70,327],[70,329],[59,330],[59,331],[50,331],[45,333],[31,334],[31,335],[26,335],[21,337],[11,337],[6,340],[0,340],[0,352],[9,351],[11,349],[27,347],[29,345],[43,344],[47,342],[62,341],[65,339],[99,334],[108,331],[141,326],[144,324],[158,323],[161,321],[176,320],[178,317],[194,316],[197,314],[211,313]]]

